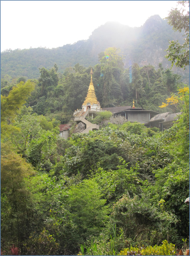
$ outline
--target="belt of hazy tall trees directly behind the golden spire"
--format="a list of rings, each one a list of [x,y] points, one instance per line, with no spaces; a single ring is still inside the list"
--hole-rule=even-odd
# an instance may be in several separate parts
[[[158,70],[151,65],[140,68],[137,63],[124,69],[123,57],[115,47],[101,52],[99,58],[100,64],[93,67],[93,83],[101,107],[131,106],[133,99],[136,99],[136,107],[162,112],[165,111],[159,109],[162,102],[171,92],[177,92],[177,86],[182,86],[180,75],[174,74],[171,69],[164,70],[161,63]],[[80,109],[84,102],[91,67],[76,64],[64,74],[59,73],[58,69],[56,64],[49,70],[40,68],[39,79],[32,80],[26,77],[11,79],[7,75],[1,81],[2,104],[5,104],[3,100],[6,97],[14,95],[15,88],[26,83],[30,89],[35,89],[25,105],[32,107],[34,113],[46,116],[47,121],[41,117],[41,125],[44,123],[46,130],[55,127],[48,122],[68,123],[73,112]],[[2,106],[3,109],[6,109],[6,105]]]

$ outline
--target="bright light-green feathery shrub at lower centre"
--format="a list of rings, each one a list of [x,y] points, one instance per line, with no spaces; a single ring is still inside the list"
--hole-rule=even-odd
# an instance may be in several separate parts
[[[73,223],[77,226],[76,244],[85,242],[86,238],[100,233],[107,220],[105,199],[98,184],[92,180],[83,180],[73,185],[68,193],[68,205]]]

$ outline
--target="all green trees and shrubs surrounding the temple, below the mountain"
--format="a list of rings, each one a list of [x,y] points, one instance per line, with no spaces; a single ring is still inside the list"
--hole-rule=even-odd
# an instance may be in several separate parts
[[[171,11],[168,20],[185,31],[184,44],[167,45],[183,70],[189,14]],[[44,65],[38,79],[1,80],[1,255],[187,254],[189,87],[161,62],[126,68],[116,47],[98,57],[64,72]],[[99,130],[76,133],[72,115],[91,68],[101,107],[134,99],[136,107],[182,114],[160,131],[105,111],[93,119]],[[66,140],[59,125],[68,122]]]

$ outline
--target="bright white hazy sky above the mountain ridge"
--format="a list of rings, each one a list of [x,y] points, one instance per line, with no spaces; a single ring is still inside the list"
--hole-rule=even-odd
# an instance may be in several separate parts
[[[108,21],[140,27],[152,15],[168,16],[177,1],[1,0],[1,51],[56,48],[86,40]]]

